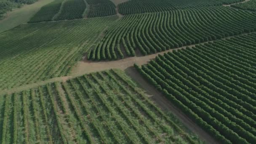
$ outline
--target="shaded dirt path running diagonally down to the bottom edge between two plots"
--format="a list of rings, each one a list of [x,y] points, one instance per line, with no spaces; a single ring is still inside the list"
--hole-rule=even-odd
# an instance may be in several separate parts
[[[175,107],[165,96],[157,91],[155,87],[150,85],[134,67],[128,67],[125,69],[126,75],[132,78],[141,88],[145,90],[147,96],[149,96],[158,107],[165,112],[171,112],[175,115],[190,131],[197,134],[200,139],[207,144],[219,144],[212,136],[206,133],[200,126],[194,123],[187,115],[185,115],[179,108]]]

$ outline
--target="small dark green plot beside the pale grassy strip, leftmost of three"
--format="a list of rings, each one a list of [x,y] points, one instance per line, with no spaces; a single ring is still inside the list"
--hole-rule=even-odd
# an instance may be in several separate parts
[[[43,6],[28,23],[51,21],[53,17],[60,11],[63,0],[54,0],[53,2]]]

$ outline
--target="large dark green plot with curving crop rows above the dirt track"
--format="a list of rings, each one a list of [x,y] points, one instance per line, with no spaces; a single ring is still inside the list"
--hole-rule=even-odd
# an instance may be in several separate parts
[[[255,24],[256,13],[223,6],[126,15],[108,29],[87,58],[115,60],[135,56],[135,51],[157,53],[253,32]]]

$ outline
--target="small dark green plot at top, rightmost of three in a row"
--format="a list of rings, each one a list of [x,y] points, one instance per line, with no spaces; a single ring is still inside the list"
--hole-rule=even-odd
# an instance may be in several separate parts
[[[115,4],[110,0],[87,0],[87,3],[90,5],[88,18],[117,14]]]

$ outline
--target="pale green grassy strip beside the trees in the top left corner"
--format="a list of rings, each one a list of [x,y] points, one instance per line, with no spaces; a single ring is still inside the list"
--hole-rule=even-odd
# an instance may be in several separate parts
[[[27,23],[32,16],[40,10],[40,8],[53,0],[38,0],[31,5],[23,5],[13,11],[9,11],[5,19],[0,20],[0,32],[12,29],[20,24]]]

